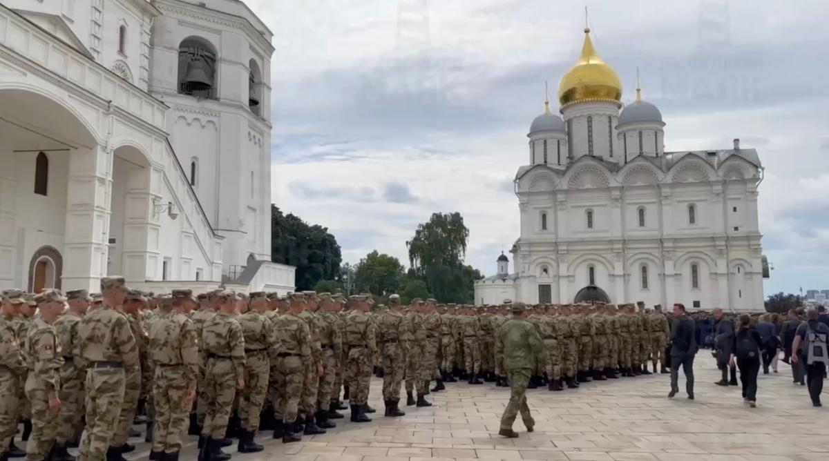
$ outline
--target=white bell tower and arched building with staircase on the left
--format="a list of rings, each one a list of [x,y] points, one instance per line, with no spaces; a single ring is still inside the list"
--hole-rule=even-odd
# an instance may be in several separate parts
[[[0,289],[293,291],[272,36],[237,0],[2,0]]]

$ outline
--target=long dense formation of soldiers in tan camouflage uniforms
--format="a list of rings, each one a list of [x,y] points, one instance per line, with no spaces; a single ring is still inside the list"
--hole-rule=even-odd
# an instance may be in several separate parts
[[[2,292],[0,461],[124,460],[133,424],[146,424],[153,460],[177,460],[186,435],[199,460],[225,460],[238,439],[255,453],[258,431],[295,442],[351,422],[371,421],[372,374],[381,377],[385,416],[431,406],[445,382],[510,386],[516,364],[497,334],[511,319],[502,305],[436,300],[374,305],[371,295],[303,291],[280,296],[216,290],[194,296],[131,290],[121,277],[99,294]],[[538,334],[528,387],[550,391],[666,372],[670,336],[657,308],[532,305],[523,317]],[[524,373],[522,371],[522,373]],[[514,378],[513,378],[514,379]],[[434,382],[434,387],[432,387]],[[347,405],[345,402],[347,401]],[[14,444],[22,422],[26,451]],[[77,457],[68,448],[78,448]]]

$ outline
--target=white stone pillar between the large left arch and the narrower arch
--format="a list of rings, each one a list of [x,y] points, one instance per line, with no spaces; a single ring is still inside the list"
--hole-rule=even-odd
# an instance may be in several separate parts
[[[66,186],[64,291],[100,291],[109,241],[112,151],[106,146],[70,151]]]

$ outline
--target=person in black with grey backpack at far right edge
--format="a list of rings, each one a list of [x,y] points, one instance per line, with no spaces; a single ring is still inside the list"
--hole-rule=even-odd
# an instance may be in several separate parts
[[[792,363],[802,362],[806,369],[806,383],[812,406],[821,405],[823,378],[829,368],[829,327],[818,319],[816,309],[806,314],[806,322],[797,327],[792,345]]]

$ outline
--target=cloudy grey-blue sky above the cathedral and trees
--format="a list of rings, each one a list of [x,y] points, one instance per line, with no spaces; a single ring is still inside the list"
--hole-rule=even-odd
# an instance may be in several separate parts
[[[495,271],[518,235],[527,128],[578,55],[586,4],[625,101],[641,69],[667,151],[758,149],[766,293],[829,288],[825,0],[248,3],[274,31],[274,203],[329,228],[347,262],[406,262],[418,223],[459,211],[467,261]]]

